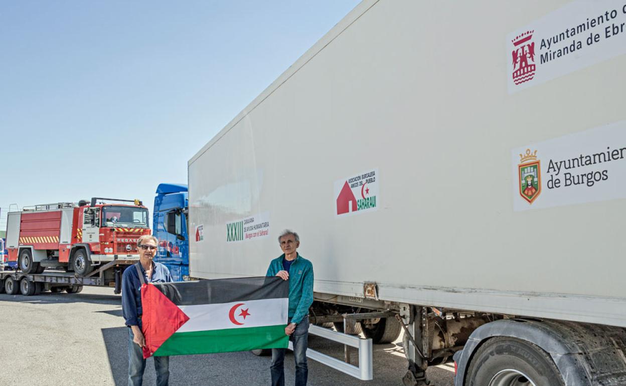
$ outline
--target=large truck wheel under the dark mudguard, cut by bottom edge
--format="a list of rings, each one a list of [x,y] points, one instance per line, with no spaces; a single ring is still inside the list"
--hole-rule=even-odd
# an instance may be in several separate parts
[[[548,353],[533,343],[511,337],[495,337],[483,343],[469,363],[463,384],[565,385]]]

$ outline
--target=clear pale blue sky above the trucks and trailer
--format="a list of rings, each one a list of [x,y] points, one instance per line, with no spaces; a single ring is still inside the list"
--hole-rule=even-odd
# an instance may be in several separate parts
[[[140,198],[357,0],[0,3],[0,230],[9,204]]]

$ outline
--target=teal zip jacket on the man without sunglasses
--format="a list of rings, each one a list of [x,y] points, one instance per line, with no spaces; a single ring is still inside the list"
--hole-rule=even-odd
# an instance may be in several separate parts
[[[282,262],[285,254],[270,262],[265,276],[276,276],[283,270]],[[309,307],[313,303],[313,265],[309,260],[297,254],[289,268],[289,318],[295,324],[302,322],[309,315]]]

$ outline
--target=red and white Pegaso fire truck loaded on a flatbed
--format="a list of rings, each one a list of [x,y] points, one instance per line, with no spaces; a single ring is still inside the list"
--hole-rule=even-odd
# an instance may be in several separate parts
[[[18,262],[24,273],[63,267],[82,276],[102,263],[138,260],[136,241],[150,234],[148,218],[148,208],[139,200],[94,197],[24,207],[8,213],[9,262]]]

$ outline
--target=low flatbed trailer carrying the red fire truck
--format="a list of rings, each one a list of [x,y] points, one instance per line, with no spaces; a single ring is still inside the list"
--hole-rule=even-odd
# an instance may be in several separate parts
[[[46,271],[24,273],[21,271],[0,271],[0,293],[24,296],[38,295],[43,291],[78,293],[83,286],[111,287],[114,293],[121,293],[121,275],[137,260],[114,260],[106,263],[89,275],[76,275],[73,272]]]

